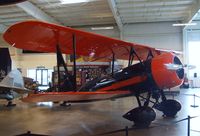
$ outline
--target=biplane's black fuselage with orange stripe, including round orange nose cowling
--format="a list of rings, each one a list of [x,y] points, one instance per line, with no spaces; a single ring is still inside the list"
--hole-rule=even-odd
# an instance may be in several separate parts
[[[167,69],[166,64],[182,65],[174,54],[161,54],[142,63],[126,67],[113,76],[94,79],[84,85],[80,91],[130,90],[142,93],[180,85],[184,78],[183,68],[170,70]]]

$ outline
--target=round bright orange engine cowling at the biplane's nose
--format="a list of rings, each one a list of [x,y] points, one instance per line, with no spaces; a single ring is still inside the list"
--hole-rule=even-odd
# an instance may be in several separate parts
[[[169,89],[182,84],[184,69],[168,69],[166,64],[182,66],[180,59],[173,53],[164,53],[152,59],[151,71],[153,79],[159,89]]]

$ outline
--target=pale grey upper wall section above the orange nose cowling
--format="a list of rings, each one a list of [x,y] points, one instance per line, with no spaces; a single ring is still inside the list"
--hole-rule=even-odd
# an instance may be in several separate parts
[[[155,48],[182,51],[182,28],[174,22],[125,25],[123,39]]]

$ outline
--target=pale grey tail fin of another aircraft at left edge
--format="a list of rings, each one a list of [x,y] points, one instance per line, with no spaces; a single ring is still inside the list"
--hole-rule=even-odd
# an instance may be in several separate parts
[[[17,93],[25,93],[24,80],[18,70],[12,70],[1,82],[0,87],[10,88]]]

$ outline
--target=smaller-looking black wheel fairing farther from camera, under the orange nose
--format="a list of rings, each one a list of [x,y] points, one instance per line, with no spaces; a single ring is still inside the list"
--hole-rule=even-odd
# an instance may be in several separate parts
[[[177,112],[181,110],[181,104],[176,100],[165,100],[158,104],[156,109],[163,112],[166,117],[175,117]]]

